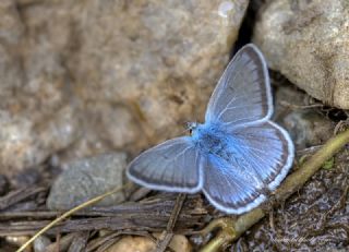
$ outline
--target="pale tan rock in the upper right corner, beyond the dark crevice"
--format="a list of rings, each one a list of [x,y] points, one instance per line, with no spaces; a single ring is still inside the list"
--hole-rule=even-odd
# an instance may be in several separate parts
[[[268,1],[254,27],[272,69],[324,104],[349,109],[349,2]]]

